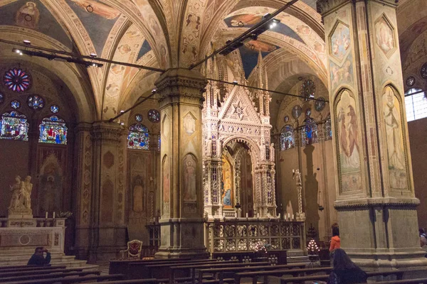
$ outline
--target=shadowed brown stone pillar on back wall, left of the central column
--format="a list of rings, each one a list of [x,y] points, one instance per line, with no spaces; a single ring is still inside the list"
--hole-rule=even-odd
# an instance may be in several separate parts
[[[89,260],[114,258],[125,242],[126,131],[117,123],[96,123],[93,138],[93,191]]]

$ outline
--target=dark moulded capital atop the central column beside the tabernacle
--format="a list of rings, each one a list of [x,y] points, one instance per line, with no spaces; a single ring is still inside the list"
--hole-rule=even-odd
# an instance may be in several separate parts
[[[165,106],[174,102],[199,104],[204,102],[207,80],[201,73],[182,68],[169,69],[154,83],[159,104]]]

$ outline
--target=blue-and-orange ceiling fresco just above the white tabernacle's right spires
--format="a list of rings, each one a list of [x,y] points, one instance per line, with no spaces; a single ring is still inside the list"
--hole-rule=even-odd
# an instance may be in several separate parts
[[[249,75],[251,75],[253,68],[255,68],[258,63],[259,50],[261,50],[261,55],[263,55],[263,58],[265,58],[268,53],[271,53],[274,50],[277,50],[278,48],[280,47],[278,47],[277,45],[265,43],[261,40],[250,40],[245,43],[245,45],[243,45],[241,48],[239,48],[246,79],[249,77]]]

